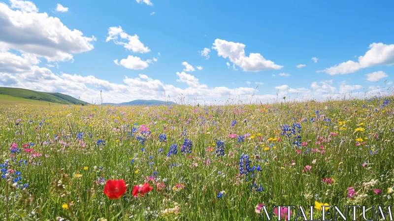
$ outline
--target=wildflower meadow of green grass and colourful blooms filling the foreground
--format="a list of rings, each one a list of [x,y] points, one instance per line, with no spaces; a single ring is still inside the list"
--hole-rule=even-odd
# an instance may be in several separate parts
[[[0,217],[264,220],[258,204],[314,206],[315,218],[324,204],[366,205],[372,217],[393,205],[392,101],[2,105]],[[108,180],[128,185],[119,200]],[[144,183],[153,189],[134,197]]]

